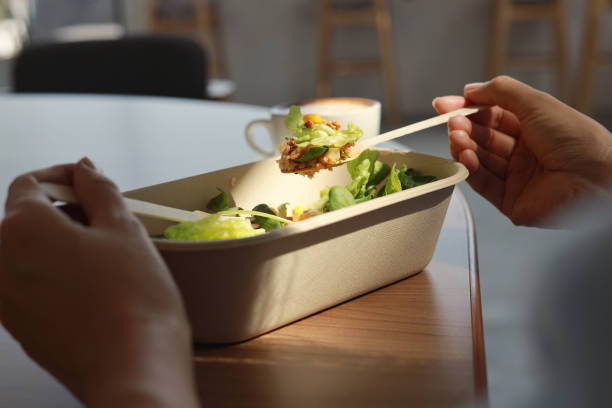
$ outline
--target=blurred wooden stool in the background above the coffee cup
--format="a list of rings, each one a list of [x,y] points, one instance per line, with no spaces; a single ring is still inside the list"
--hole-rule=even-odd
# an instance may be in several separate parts
[[[387,119],[400,121],[400,103],[393,55],[391,15],[387,0],[371,0],[370,4],[358,8],[338,8],[333,0],[320,0],[319,79],[317,95],[331,95],[331,76],[380,71],[384,83],[384,98]],[[331,43],[336,27],[374,25],[378,34],[380,57],[377,59],[332,61]]]

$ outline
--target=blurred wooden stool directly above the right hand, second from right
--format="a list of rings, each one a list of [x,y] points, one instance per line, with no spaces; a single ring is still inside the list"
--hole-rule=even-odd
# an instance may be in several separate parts
[[[518,21],[549,20],[554,26],[554,57],[507,55],[510,25]],[[527,69],[556,67],[557,91],[567,100],[567,57],[565,38],[565,7],[563,0],[525,1],[496,0],[491,44],[490,77],[504,72],[509,66]]]

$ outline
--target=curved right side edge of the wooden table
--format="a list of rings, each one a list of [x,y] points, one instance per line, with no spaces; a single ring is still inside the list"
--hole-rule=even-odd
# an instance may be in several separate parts
[[[484,406],[489,405],[487,384],[487,361],[485,355],[484,329],[482,323],[482,301],[480,297],[480,277],[478,270],[478,247],[476,227],[472,211],[461,190],[457,190],[457,199],[461,202],[466,218],[468,243],[468,261],[470,278],[470,302],[472,314],[472,347],[474,356],[474,388],[476,398]]]

